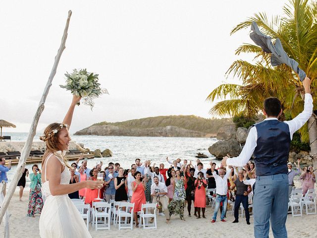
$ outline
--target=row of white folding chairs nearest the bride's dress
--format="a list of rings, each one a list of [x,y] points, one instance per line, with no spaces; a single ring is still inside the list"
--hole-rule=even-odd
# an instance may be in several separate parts
[[[115,227],[118,224],[119,230],[133,230],[134,203],[110,200],[110,203],[104,201],[93,202],[92,207],[90,207],[89,204],[84,204],[84,201],[81,199],[71,200],[81,213],[83,219],[86,219],[87,229],[89,229],[89,223],[91,222],[96,231],[110,230],[110,224],[112,222]],[[154,213],[152,213],[152,211],[154,211]],[[138,212],[138,215],[140,216],[139,224],[143,224],[143,229],[157,229],[156,211],[156,203],[142,204],[141,211]],[[102,221],[103,218],[104,222]],[[153,224],[149,222],[149,219],[152,218],[154,219]],[[128,220],[130,220],[129,223],[127,222]],[[101,224],[103,224],[103,226],[101,226]]]

